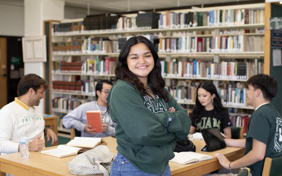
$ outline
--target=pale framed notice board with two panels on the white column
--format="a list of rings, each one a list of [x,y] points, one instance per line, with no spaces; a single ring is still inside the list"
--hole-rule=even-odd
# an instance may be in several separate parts
[[[22,37],[24,62],[46,62],[46,35]]]

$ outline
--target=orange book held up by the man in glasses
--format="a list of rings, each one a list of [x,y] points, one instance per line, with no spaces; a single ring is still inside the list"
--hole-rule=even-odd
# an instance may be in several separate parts
[[[90,129],[96,129],[96,133],[102,133],[101,110],[86,111],[87,124],[91,125]]]

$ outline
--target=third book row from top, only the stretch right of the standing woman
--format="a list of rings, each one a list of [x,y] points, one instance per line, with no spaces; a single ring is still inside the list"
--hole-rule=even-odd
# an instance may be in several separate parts
[[[255,62],[205,62],[202,60],[161,61],[162,76],[188,78],[219,78],[229,80],[246,80],[249,77],[263,73],[263,60]]]

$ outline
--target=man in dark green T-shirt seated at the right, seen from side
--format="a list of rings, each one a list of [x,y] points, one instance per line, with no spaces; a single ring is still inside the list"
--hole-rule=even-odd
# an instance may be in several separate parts
[[[270,101],[276,96],[278,83],[266,74],[247,81],[247,103],[255,111],[250,117],[246,139],[225,139],[227,146],[245,147],[245,156],[230,162],[220,153],[214,154],[225,169],[249,167],[252,175],[262,175],[266,157],[282,155],[281,115]]]

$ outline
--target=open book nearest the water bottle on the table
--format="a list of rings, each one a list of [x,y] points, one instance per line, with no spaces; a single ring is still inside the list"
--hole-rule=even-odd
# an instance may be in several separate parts
[[[77,155],[80,152],[85,152],[86,149],[80,147],[71,147],[66,145],[58,145],[57,148],[50,150],[42,150],[41,153],[45,155],[55,156],[58,158],[63,158],[67,156]]]

